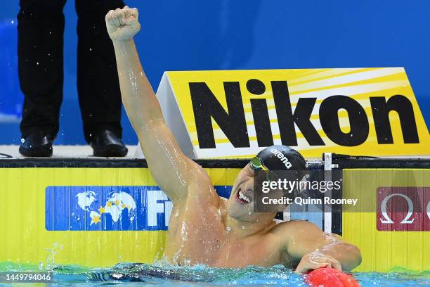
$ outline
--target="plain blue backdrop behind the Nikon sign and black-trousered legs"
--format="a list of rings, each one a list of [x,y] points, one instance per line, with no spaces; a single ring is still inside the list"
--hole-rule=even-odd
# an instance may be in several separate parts
[[[18,0],[4,2],[0,11],[0,144],[18,144],[19,120],[11,116],[19,113],[22,104],[15,51]],[[429,1],[126,3],[140,10],[142,31],[136,43],[155,89],[164,70],[403,66],[430,125]],[[68,1],[65,15],[65,87],[56,144],[84,144],[75,85],[74,1]],[[125,114],[122,122],[124,141],[136,144]]]

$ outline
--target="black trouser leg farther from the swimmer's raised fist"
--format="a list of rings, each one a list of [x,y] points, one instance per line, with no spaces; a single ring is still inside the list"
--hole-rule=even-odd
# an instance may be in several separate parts
[[[22,138],[34,132],[58,132],[63,100],[63,32],[65,0],[20,0],[18,68],[25,95]]]

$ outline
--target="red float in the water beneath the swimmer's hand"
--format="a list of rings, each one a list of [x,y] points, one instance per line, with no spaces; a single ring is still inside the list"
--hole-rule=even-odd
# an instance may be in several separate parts
[[[306,283],[309,285],[324,287],[359,287],[360,284],[352,275],[332,268],[315,269],[306,276]]]

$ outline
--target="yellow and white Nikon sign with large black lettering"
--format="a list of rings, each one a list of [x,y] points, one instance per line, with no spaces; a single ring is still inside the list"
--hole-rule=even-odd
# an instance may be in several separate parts
[[[403,68],[165,72],[157,96],[193,158],[247,158],[272,144],[305,158],[429,154]]]

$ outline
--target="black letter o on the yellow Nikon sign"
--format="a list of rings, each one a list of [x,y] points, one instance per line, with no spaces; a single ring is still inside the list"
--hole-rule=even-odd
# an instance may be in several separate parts
[[[345,109],[348,113],[350,131],[341,131],[337,112]],[[320,122],[325,134],[340,146],[358,146],[369,136],[369,122],[360,103],[348,96],[329,96],[320,106]]]

